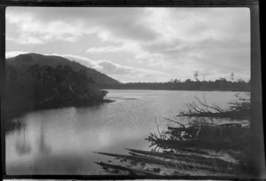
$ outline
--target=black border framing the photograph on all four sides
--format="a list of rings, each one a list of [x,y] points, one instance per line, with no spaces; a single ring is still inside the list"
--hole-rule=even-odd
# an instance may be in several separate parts
[[[5,12],[6,7],[35,6],[35,7],[246,7],[250,10],[251,35],[251,126],[250,126],[250,158],[249,165],[252,176],[248,178],[265,179],[265,150],[262,118],[262,58],[260,7],[257,0],[189,0],[189,1],[160,1],[160,0],[76,0],[76,1],[0,1],[0,74],[1,74],[1,153],[2,173],[4,179],[244,179],[246,177],[140,177],[140,176],[104,176],[104,175],[6,175],[5,172],[5,124],[4,124],[4,88],[5,88]]]

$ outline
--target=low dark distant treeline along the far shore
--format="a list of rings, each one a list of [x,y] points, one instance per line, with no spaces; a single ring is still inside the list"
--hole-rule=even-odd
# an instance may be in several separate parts
[[[113,90],[177,90],[177,91],[250,91],[248,83],[239,80],[237,82],[219,79],[215,81],[168,82],[168,83],[110,83],[100,85],[103,89]]]

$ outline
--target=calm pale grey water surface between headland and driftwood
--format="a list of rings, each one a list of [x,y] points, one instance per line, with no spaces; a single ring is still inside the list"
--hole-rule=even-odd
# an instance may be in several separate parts
[[[226,107],[237,92],[207,91],[209,104]],[[239,94],[244,94],[239,92]],[[145,140],[157,131],[154,120],[177,114],[185,104],[203,98],[203,91],[110,90],[115,102],[100,106],[66,107],[24,114],[24,127],[5,138],[8,175],[102,174],[93,152],[127,153],[124,148],[151,150]]]

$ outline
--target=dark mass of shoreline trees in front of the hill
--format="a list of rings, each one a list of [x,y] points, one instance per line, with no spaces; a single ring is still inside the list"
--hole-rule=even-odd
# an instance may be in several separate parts
[[[4,95],[5,130],[14,126],[12,117],[37,109],[62,106],[93,106],[106,102],[107,91],[85,73],[69,66],[33,65],[25,70],[6,66]]]

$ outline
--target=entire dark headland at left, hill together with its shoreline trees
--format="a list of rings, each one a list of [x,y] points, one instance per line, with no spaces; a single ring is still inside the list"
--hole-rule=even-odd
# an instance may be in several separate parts
[[[6,60],[5,130],[20,126],[12,118],[30,111],[64,106],[96,106],[110,102],[100,83],[113,78],[59,56],[29,53]],[[19,124],[18,124],[19,123]]]

